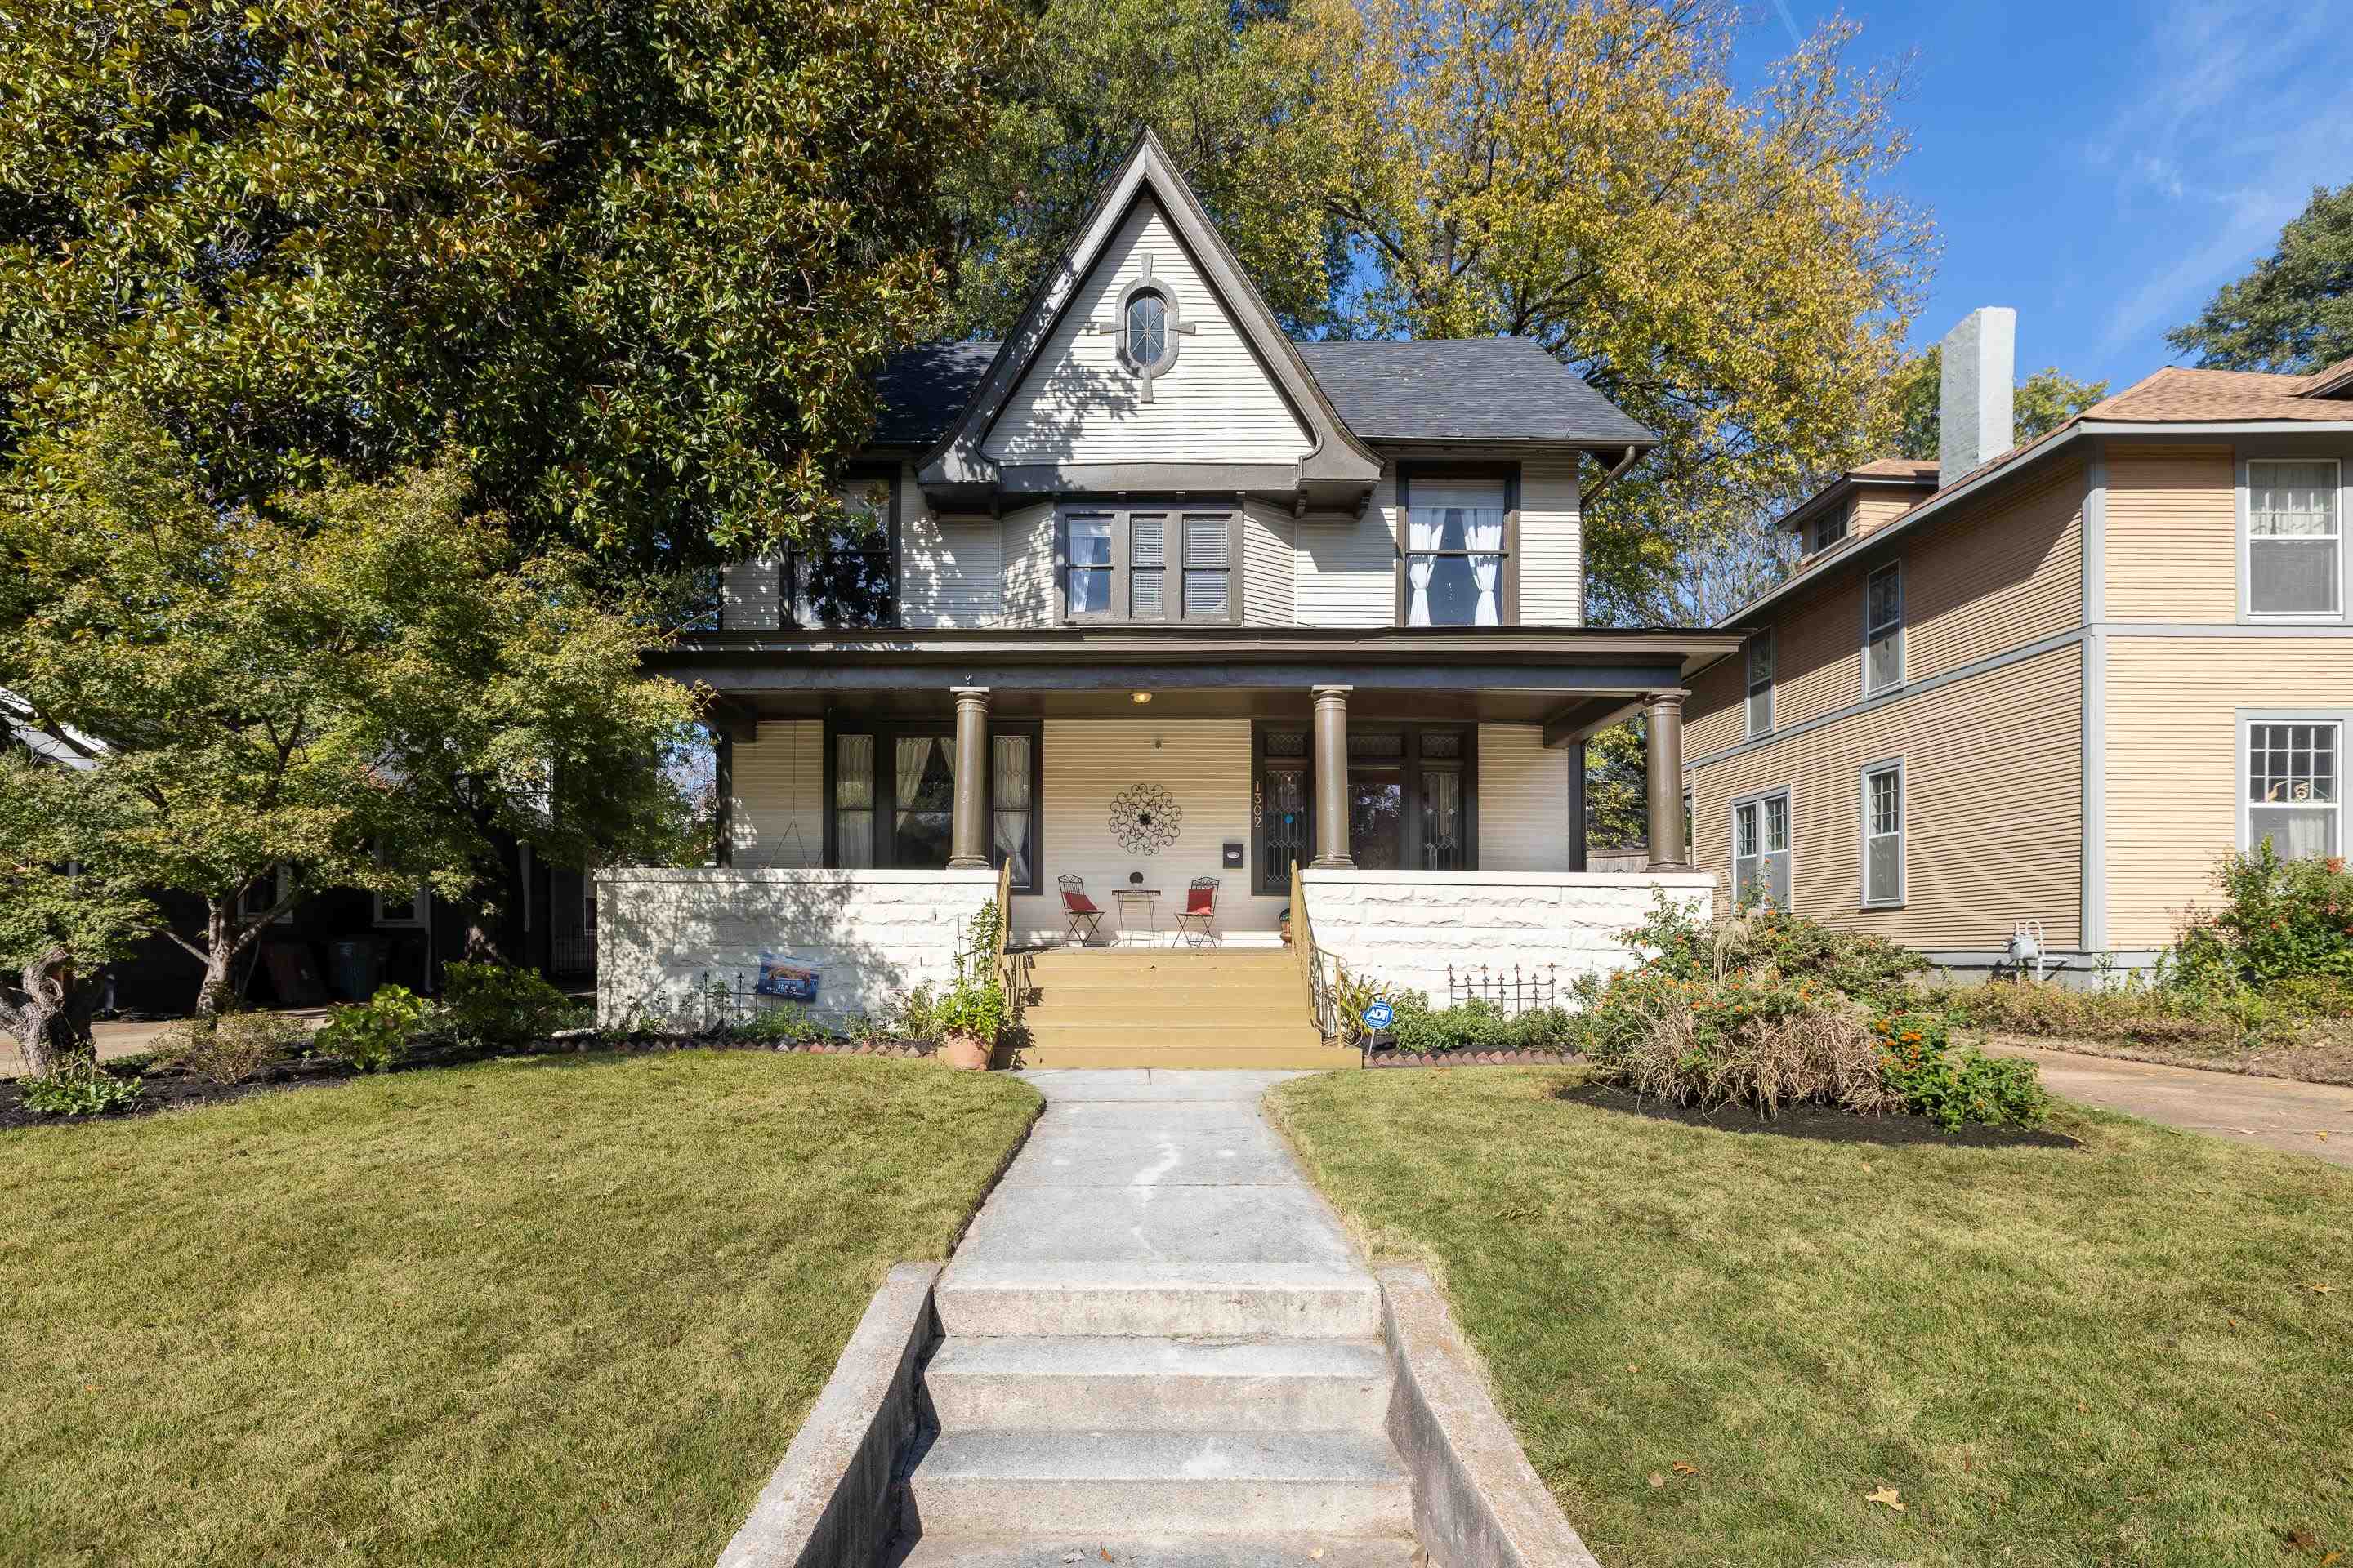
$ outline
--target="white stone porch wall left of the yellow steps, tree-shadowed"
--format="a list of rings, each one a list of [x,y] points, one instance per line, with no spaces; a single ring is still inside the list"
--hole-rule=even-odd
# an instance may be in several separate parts
[[[600,872],[598,1023],[701,1023],[704,978],[751,990],[762,952],[824,971],[819,1018],[880,1013],[955,976],[965,926],[995,896],[995,872]]]

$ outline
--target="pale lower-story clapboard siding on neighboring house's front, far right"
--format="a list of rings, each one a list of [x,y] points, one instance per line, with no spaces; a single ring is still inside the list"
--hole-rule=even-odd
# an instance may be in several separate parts
[[[2162,947],[2238,849],[2238,710],[2353,708],[2346,637],[2108,635],[2108,945]]]

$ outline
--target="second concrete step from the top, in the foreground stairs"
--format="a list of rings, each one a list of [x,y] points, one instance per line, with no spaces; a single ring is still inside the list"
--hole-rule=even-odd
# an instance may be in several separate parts
[[[948,1340],[922,1373],[946,1432],[1379,1432],[1372,1340]]]

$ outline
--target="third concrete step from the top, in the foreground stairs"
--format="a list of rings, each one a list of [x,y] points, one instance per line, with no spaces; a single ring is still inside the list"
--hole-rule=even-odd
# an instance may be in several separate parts
[[[908,1509],[922,1535],[1414,1528],[1405,1467],[1377,1432],[941,1432]]]

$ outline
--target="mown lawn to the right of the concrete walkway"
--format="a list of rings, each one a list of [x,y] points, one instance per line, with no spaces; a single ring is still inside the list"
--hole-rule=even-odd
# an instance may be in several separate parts
[[[2073,1107],[2080,1150],[1748,1135],[1574,1081],[1273,1107],[1377,1251],[1438,1269],[1612,1568],[2353,1563],[2353,1171]]]

